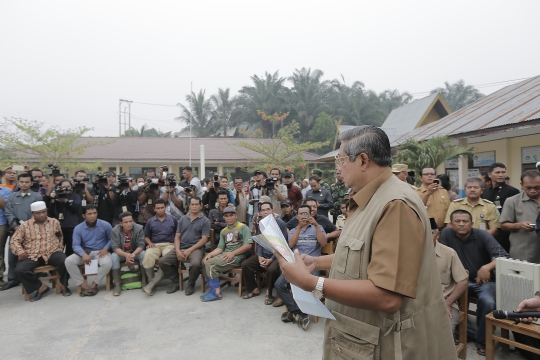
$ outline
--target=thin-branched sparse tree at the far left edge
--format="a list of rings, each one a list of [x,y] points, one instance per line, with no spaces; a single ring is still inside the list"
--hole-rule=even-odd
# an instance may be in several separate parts
[[[41,168],[53,163],[62,171],[97,169],[100,163],[82,163],[78,159],[87,148],[105,143],[81,139],[91,130],[84,126],[67,130],[45,128],[44,123],[33,120],[4,118],[0,122],[0,146],[3,149],[0,162],[2,166],[37,163]]]

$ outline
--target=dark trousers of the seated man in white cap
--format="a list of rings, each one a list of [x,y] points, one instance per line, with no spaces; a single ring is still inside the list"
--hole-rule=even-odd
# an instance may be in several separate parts
[[[60,283],[67,287],[67,271],[66,266],[64,265],[65,261],[66,254],[60,251],[52,253],[47,264],[45,264],[45,260],[43,260],[41,257],[37,259],[37,261],[26,259],[17,263],[17,266],[15,267],[15,275],[22,282],[26,292],[31,294],[38,290],[42,285],[41,280],[39,280],[37,274],[34,273],[34,269],[38,266],[51,265],[56,268],[58,275],[60,275]],[[60,286],[60,284],[57,284],[56,286]]]

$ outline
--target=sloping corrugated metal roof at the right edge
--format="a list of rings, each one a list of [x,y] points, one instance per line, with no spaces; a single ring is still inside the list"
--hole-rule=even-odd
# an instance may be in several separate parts
[[[537,120],[540,120],[540,75],[506,86],[441,120],[398,136],[391,145],[397,146],[408,138],[422,141],[436,135],[480,136],[490,131],[537,126]]]

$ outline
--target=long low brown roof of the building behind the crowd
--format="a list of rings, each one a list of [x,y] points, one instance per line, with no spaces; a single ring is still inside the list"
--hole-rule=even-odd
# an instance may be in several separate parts
[[[81,141],[101,144],[86,148],[78,158],[80,161],[145,162],[146,160],[167,160],[184,162],[189,160],[189,138],[159,137],[83,137]],[[263,155],[234,145],[239,141],[256,144],[256,139],[244,138],[192,138],[191,159],[200,160],[200,145],[204,145],[207,162],[245,162]],[[272,139],[262,139],[271,143]],[[276,140],[278,141],[278,140]],[[304,152],[304,160],[311,162],[319,155]]]

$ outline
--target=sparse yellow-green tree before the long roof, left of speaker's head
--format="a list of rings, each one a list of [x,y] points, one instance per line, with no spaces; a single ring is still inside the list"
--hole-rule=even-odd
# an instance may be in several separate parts
[[[273,139],[258,137],[251,142],[239,141],[231,145],[260,154],[261,156],[246,157],[248,163],[256,163],[260,169],[269,171],[271,168],[277,167],[280,170],[301,171],[305,167],[303,152],[320,149],[328,145],[328,142],[298,143],[296,136],[299,132],[298,123],[293,121],[280,129]],[[236,151],[246,156],[245,151]],[[254,169],[249,168],[248,170]]]

